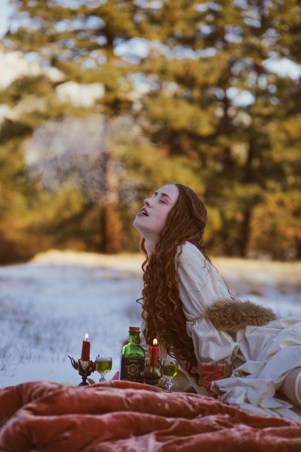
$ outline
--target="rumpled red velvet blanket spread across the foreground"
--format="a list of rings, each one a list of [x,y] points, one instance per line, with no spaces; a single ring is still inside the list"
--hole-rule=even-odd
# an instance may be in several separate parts
[[[197,394],[108,381],[0,389],[0,449],[25,452],[300,452],[301,426]]]

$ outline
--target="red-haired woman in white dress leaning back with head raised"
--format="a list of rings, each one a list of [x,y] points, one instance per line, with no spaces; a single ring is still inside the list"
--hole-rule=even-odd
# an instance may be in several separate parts
[[[134,220],[145,346],[158,337],[199,394],[301,424],[301,322],[234,299],[206,253],[206,223],[204,203],[181,184],[145,199]]]

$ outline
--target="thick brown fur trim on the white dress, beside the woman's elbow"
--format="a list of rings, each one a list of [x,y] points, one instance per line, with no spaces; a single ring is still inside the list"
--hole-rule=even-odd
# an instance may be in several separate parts
[[[208,306],[204,317],[212,322],[216,330],[228,333],[241,330],[248,325],[263,326],[278,318],[272,309],[252,301],[227,299],[217,300],[212,306]]]

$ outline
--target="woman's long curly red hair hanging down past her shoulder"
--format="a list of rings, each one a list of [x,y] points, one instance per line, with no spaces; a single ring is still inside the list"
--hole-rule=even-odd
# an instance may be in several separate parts
[[[195,245],[211,263],[203,241],[207,210],[191,188],[182,184],[175,185],[179,190],[179,197],[168,214],[166,225],[150,256],[147,255],[144,238],[140,241],[140,248],[146,256],[142,264],[143,334],[148,346],[153,344],[154,337],[158,337],[167,353],[185,363],[187,372],[199,384],[198,363],[192,339],[186,331],[176,270],[181,246],[185,241]],[[180,253],[176,264],[178,247]]]

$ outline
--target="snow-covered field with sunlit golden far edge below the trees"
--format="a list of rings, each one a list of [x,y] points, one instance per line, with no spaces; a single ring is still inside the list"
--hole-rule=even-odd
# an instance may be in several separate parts
[[[28,264],[0,267],[0,387],[51,380],[77,385],[68,355],[80,358],[85,333],[91,359],[112,356],[119,368],[122,340],[139,326],[140,254],[104,256],[51,251]],[[301,263],[217,259],[231,292],[301,317]],[[94,372],[91,376],[98,381]]]

